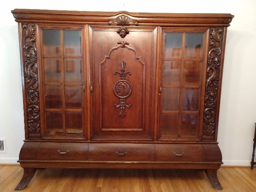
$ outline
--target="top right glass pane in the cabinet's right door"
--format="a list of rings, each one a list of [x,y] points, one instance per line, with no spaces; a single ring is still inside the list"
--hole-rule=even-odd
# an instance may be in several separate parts
[[[203,33],[186,33],[185,57],[202,59]]]

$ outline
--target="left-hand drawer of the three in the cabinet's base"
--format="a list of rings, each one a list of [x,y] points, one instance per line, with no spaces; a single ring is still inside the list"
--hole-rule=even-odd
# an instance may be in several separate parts
[[[88,143],[42,142],[37,151],[39,160],[88,160]]]

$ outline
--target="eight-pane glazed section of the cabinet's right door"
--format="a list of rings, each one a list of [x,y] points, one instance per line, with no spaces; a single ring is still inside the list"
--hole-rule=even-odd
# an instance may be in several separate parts
[[[199,139],[206,29],[162,29],[158,140]]]

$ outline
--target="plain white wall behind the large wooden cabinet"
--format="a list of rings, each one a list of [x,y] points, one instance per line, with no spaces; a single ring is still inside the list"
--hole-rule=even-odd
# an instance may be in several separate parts
[[[249,165],[256,122],[256,1],[182,0],[182,1],[87,1],[72,4],[43,1],[5,1],[0,8],[0,138],[6,138],[7,153],[0,163],[14,163],[24,139],[22,87],[18,27],[11,14],[14,8],[231,13],[235,18],[227,31],[223,71],[218,142],[225,165]]]

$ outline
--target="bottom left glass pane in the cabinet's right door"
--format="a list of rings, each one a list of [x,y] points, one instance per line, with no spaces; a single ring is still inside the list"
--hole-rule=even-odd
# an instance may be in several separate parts
[[[161,135],[178,136],[178,113],[162,113],[161,115]]]

